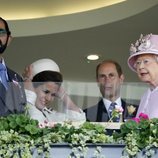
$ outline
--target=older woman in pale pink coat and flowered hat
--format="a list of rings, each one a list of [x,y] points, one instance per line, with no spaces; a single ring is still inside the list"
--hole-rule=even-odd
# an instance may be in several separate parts
[[[141,35],[131,45],[128,65],[150,86],[141,98],[137,117],[145,113],[149,118],[158,118],[158,35]]]

